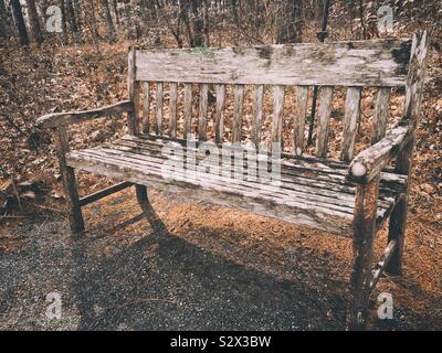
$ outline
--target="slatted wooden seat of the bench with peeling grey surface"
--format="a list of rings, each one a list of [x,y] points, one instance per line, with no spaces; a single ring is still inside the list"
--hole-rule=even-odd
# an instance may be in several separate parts
[[[187,154],[185,141],[180,143]],[[179,192],[183,200],[210,200],[224,206],[276,217],[337,235],[352,235],[355,183],[347,180],[349,163],[313,157],[284,156],[280,188],[259,181],[236,180],[192,171],[165,174],[167,157],[161,148],[167,138],[148,135],[125,136],[106,145],[71,151],[70,167]],[[221,160],[221,158],[220,158]],[[244,157],[244,163],[246,162]],[[406,190],[407,176],[382,172],[377,211],[377,227],[382,226]]]

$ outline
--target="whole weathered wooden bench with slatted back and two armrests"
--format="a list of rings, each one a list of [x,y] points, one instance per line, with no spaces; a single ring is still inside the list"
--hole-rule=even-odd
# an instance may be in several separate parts
[[[78,233],[84,229],[82,206],[135,184],[140,204],[147,202],[147,186],[151,186],[182,193],[188,200],[203,199],[352,237],[354,269],[347,325],[350,329],[364,328],[369,296],[382,272],[401,272],[408,178],[427,51],[427,33],[415,34],[412,41],[155,51],[133,47],[128,57],[129,100],[88,111],[50,114],[38,120],[39,126],[56,131],[57,157],[71,210],[72,231]],[[209,95],[211,85],[215,101],[208,98],[213,97]],[[251,85],[254,90],[250,127],[244,126],[243,119],[245,85]],[[304,127],[308,89],[313,85],[320,86],[320,95],[316,156],[308,157],[303,156]],[[287,86],[295,86],[296,104],[292,119],[293,135],[284,140],[284,93]],[[346,88],[339,160],[327,159],[335,86]],[[196,87],[197,97],[192,96]],[[233,96],[230,129],[224,128],[228,125],[228,121],[224,124],[227,87],[232,88]],[[364,87],[377,89],[372,143],[354,158]],[[404,111],[400,122],[386,133],[389,95],[393,87],[404,87]],[[231,164],[232,154],[229,153],[233,151],[234,154],[238,146],[245,146],[246,140],[254,147],[261,142],[265,131],[264,93],[271,89],[274,104],[269,139],[273,142],[272,152],[275,146],[280,146],[283,152],[270,157],[263,151],[256,153],[255,150],[253,153],[249,143],[246,149],[240,151],[240,163],[236,158],[236,164]],[[150,97],[154,90],[155,101]],[[194,98],[199,98],[198,119],[192,114]],[[165,100],[168,101],[167,115],[164,111]],[[150,111],[151,106],[155,106],[154,111]],[[210,109],[214,121],[208,119]],[[66,126],[123,113],[128,116],[127,136],[97,148],[70,151]],[[250,138],[244,133],[246,129]],[[183,139],[189,133],[196,137],[190,143]],[[221,156],[221,149],[213,149],[206,142],[211,139],[217,147],[225,140],[231,142],[223,150],[230,151],[223,153],[229,156],[228,164],[233,165],[228,173],[213,171],[213,168],[211,171],[194,169],[190,163],[209,154],[219,153],[219,160],[225,157]],[[175,152],[171,152],[173,149]],[[186,161],[182,163],[185,172],[165,169],[166,161],[173,161],[168,153],[175,156],[178,162]],[[264,164],[260,164],[260,160],[265,160]],[[252,164],[248,165],[254,168],[249,168],[248,176],[253,176],[253,169],[260,171],[259,165],[264,165],[262,170],[267,172],[269,165],[272,165],[278,171],[278,184],[263,185],[260,178],[232,178],[230,172],[234,173],[243,167],[243,162],[251,161]],[[124,182],[80,199],[74,169]],[[373,236],[388,218],[388,246],[372,269]]]

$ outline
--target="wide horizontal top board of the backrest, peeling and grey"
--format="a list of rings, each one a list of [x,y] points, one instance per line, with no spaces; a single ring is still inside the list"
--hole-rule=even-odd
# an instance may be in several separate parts
[[[402,86],[409,40],[138,51],[137,79],[251,85]]]

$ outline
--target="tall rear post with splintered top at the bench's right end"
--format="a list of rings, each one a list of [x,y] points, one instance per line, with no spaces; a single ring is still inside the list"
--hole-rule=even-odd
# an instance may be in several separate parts
[[[413,42],[411,44],[410,69],[407,76],[404,107],[404,119],[412,122],[411,126],[414,129],[418,126],[420,106],[423,95],[425,57],[429,44],[427,32],[414,34]],[[407,175],[409,178],[413,157],[414,138],[415,131],[413,131],[413,138],[411,141],[399,153],[394,164],[394,171],[397,173]],[[407,184],[409,185],[410,181],[408,181]],[[408,185],[406,197],[402,197],[401,201],[399,201],[390,216],[388,242],[396,240],[397,243],[391,259],[386,268],[386,271],[391,275],[400,275],[402,271],[402,254],[407,224],[407,199],[409,190]]]

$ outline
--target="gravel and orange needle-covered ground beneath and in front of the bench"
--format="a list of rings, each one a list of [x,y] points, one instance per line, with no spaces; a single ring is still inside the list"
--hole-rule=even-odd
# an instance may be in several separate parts
[[[23,221],[11,246],[2,238],[0,329],[344,329],[349,239],[155,191],[157,214],[145,215],[134,194],[87,206],[80,238],[55,213]],[[378,285],[370,329],[442,329],[441,298],[420,277],[436,280],[414,272],[410,253],[404,276]],[[45,315],[51,292],[61,295],[60,320]],[[392,320],[377,318],[380,292],[393,295]]]

